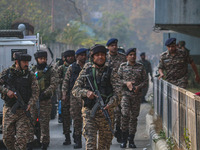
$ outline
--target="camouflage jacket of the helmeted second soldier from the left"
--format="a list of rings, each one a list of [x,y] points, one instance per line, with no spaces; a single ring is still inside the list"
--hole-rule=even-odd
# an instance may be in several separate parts
[[[46,73],[43,73],[43,70],[39,70],[36,66],[34,66],[32,71],[35,73],[35,75],[37,73],[40,74],[39,78],[36,75],[40,93],[43,92],[47,96],[52,96],[58,84],[58,75],[55,69],[50,66],[49,70]],[[48,84],[46,84],[47,82]]]

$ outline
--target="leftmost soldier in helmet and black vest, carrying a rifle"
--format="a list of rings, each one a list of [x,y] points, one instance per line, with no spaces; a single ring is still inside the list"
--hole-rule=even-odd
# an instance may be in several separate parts
[[[24,111],[33,107],[39,96],[38,82],[35,75],[28,69],[31,56],[15,53],[15,64],[0,74],[0,93],[5,101],[3,142],[9,150],[26,150],[27,134],[30,129],[30,120]],[[18,90],[27,109],[17,107],[16,113],[11,111],[16,104],[15,90]]]

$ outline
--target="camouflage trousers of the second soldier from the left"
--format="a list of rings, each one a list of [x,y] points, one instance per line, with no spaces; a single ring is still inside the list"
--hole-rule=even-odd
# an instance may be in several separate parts
[[[40,121],[40,130],[41,137],[40,143],[49,144],[50,135],[49,135],[49,122],[51,120],[51,99],[40,101],[39,109],[39,121]]]

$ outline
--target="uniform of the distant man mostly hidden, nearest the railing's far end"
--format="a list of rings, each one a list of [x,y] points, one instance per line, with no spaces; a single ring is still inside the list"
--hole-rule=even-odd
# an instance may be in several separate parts
[[[139,60],[138,62],[143,64],[145,71],[146,71],[147,78],[148,78],[147,86],[145,88],[142,88],[142,101],[144,102],[145,96],[146,96],[148,89],[149,89],[149,74],[152,78],[152,68],[151,68],[151,63],[148,60]]]

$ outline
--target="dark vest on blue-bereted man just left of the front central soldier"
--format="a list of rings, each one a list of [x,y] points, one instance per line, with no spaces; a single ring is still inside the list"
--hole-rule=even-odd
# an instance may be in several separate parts
[[[81,67],[76,62],[72,64],[72,75],[70,78],[70,91],[72,90],[76,79],[78,78],[79,73],[81,72]]]

